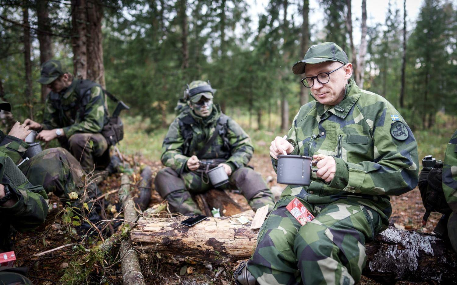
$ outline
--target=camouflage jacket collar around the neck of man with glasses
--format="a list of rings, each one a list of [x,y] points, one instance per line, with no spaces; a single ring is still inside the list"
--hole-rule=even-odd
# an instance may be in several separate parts
[[[360,87],[354,82],[354,79],[349,79],[346,84],[346,91],[343,100],[340,103],[336,104],[331,108],[332,113],[341,119],[346,118],[347,113],[351,110],[352,106],[356,104],[356,101],[359,99],[361,93]],[[311,96],[313,96],[310,93]],[[314,98],[314,97],[313,97]],[[319,117],[323,117],[325,114],[324,104],[320,104],[316,100],[316,109],[319,114]]]

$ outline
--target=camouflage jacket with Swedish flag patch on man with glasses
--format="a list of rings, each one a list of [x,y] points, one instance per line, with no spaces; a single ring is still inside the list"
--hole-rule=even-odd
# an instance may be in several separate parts
[[[326,183],[314,172],[308,187],[287,186],[282,196],[295,195],[314,204],[341,198],[376,209],[388,225],[388,195],[400,195],[418,183],[414,135],[385,98],[362,90],[354,80],[335,106],[312,101],[301,107],[288,132],[295,155],[332,155],[335,178]],[[277,160],[272,159],[277,171]]]

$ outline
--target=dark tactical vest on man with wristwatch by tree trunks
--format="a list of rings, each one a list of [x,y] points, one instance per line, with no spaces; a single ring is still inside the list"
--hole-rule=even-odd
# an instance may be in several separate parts
[[[73,120],[72,124],[76,121],[76,114],[79,111],[79,119],[83,120],[84,119],[84,109],[85,106],[89,103],[90,101],[90,89],[93,87],[98,86],[102,90],[103,88],[101,87],[100,84],[95,83],[90,80],[79,80],[78,83],[76,83],[76,87],[74,92],[77,94],[77,100],[71,102],[71,104],[68,105],[62,105],[62,99],[59,95],[59,93],[54,93],[51,91],[49,93],[49,102],[53,106],[54,109],[56,110],[63,110],[64,112],[67,112],[68,110],[71,110],[71,119]],[[103,125],[107,124],[108,122],[108,109],[105,106],[105,103],[103,103],[103,108],[105,109],[105,117],[103,119]],[[59,112],[59,121],[62,122],[64,118],[63,112]]]

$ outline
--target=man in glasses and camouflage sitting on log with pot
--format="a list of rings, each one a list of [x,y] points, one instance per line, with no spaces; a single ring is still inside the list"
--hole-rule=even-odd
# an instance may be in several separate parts
[[[319,170],[309,186],[284,189],[235,280],[355,284],[366,262],[365,243],[388,227],[389,195],[417,185],[417,144],[392,104],[351,79],[352,64],[335,43],[312,46],[292,71],[305,74],[301,82],[315,100],[301,107],[287,139],[271,142],[273,167],[286,151],[313,156]],[[286,209],[295,197],[315,217],[303,226]]]

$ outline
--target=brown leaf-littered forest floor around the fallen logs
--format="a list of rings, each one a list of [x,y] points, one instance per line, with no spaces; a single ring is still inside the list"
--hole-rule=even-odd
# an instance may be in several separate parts
[[[138,181],[140,169],[149,165],[153,169],[153,176],[162,167],[157,161],[149,161],[142,155],[133,155],[128,157],[133,174],[130,175],[133,184]],[[269,181],[268,184],[275,189],[275,194],[279,195],[282,185],[276,183],[276,173],[271,167],[270,158],[266,155],[255,155],[251,160],[251,165],[256,171],[262,173],[264,179]],[[108,177],[101,183],[102,192],[106,193],[120,186],[120,176],[115,174]],[[132,188],[136,191],[136,187]],[[150,207],[162,202],[157,192],[152,191],[152,200]],[[112,218],[117,213],[112,210],[112,205],[117,202],[117,193],[112,193],[106,198],[105,208],[107,218]],[[51,204],[58,203],[58,198],[51,196]],[[391,221],[398,228],[404,228],[409,231],[431,233],[435,224],[440,218],[440,214],[432,213],[426,226],[422,226],[421,220],[424,214],[424,208],[418,189],[414,189],[399,197],[392,197],[393,213]],[[244,206],[247,202],[239,201]],[[110,211],[111,210],[111,211]],[[62,225],[62,215],[65,210],[59,206],[49,212],[46,223],[35,231],[26,234],[18,234],[16,237],[16,255],[21,266],[30,267],[29,275],[34,284],[59,284],[60,281],[66,281],[68,284],[82,284],[74,281],[72,278],[77,275],[85,274],[85,269],[93,269],[93,272],[86,278],[90,280],[89,284],[122,284],[122,273],[119,262],[119,256],[115,255],[117,250],[112,251],[112,256],[108,255],[102,263],[93,263],[85,260],[84,253],[80,249],[69,246],[64,249],[53,251],[41,256],[34,254],[57,248],[65,244],[79,243],[90,248],[100,243],[100,238],[86,238],[81,241],[74,234],[72,226]],[[234,284],[232,281],[233,270],[236,264],[226,264],[220,266],[216,264],[203,263],[198,260],[183,260],[172,255],[145,254],[138,253],[142,265],[143,275],[147,284],[214,284],[227,285]],[[80,265],[81,272],[69,274],[69,266],[72,262],[77,261]],[[64,276],[64,274],[66,275]],[[72,277],[73,276],[73,277]],[[86,282],[83,282],[84,284]],[[363,277],[361,284],[377,284],[376,282]]]

